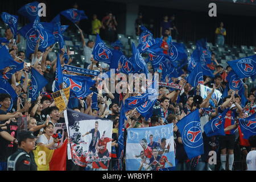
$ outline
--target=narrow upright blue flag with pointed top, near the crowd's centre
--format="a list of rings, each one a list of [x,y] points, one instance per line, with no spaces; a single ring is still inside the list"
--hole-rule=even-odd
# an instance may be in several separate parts
[[[133,47],[133,56],[131,57],[131,64],[133,65],[133,71],[135,73],[142,72],[147,75],[148,73],[147,64],[142,58],[141,53],[139,53],[138,49],[135,47],[134,43],[132,47]]]

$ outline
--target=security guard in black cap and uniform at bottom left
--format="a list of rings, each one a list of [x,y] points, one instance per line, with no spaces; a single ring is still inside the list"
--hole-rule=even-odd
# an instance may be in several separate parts
[[[22,131],[18,134],[18,150],[7,160],[8,171],[36,171],[32,150],[35,149],[35,136],[31,131]]]

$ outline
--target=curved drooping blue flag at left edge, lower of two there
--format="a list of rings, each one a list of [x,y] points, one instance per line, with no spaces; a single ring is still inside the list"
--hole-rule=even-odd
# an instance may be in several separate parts
[[[16,103],[18,96],[15,90],[13,89],[13,87],[9,84],[9,82],[1,77],[0,77],[0,93],[7,93],[11,96],[11,105],[7,109],[8,111],[10,111],[11,108],[13,108],[13,104]]]

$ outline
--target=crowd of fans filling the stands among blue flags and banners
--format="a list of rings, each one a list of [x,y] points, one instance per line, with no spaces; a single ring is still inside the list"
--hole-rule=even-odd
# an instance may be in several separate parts
[[[172,16],[174,20],[175,16]],[[142,14],[139,14],[136,20],[135,30],[137,35],[140,34],[140,26],[142,25]],[[102,21],[97,19],[97,15],[93,15],[92,20],[92,34],[103,34],[102,38],[109,42],[114,42],[117,39],[117,21],[112,13],[108,13]],[[218,34],[218,43],[224,44],[224,36],[226,32],[220,28],[217,28],[216,34]],[[104,30],[104,31],[102,31]],[[94,60],[92,55],[94,42],[89,40],[85,42],[82,30],[81,33],[82,46],[84,47],[84,68],[98,70],[100,72],[106,72],[109,70],[109,65]],[[177,28],[174,24],[168,21],[168,16],[164,16],[164,20],[161,23],[160,35],[163,36],[162,48],[164,53],[168,52],[168,42],[172,42],[173,36],[177,36]],[[5,38],[10,40],[10,43],[2,43],[2,46],[9,48],[9,53],[13,59],[17,62],[25,60],[25,52],[18,49],[18,44],[13,44],[13,35],[10,28],[5,30]],[[166,43],[167,42],[167,43]],[[9,156],[15,153],[17,148],[24,145],[26,140],[20,141],[16,139],[17,121],[20,117],[27,118],[27,130],[31,131],[34,136],[38,137],[36,145],[44,145],[49,149],[56,149],[60,146],[57,144],[58,139],[53,138],[53,130],[56,123],[64,123],[64,114],[60,113],[58,107],[51,96],[52,84],[55,81],[56,71],[56,59],[50,60],[48,58],[49,52],[52,51],[52,47],[48,47],[46,52],[40,52],[37,48],[32,53],[30,60],[24,64],[24,68],[18,72],[15,72],[7,81],[11,84],[18,100],[13,102],[13,107],[9,109],[11,105],[11,97],[9,94],[0,94],[0,170],[7,169],[7,159]],[[61,49],[60,62],[64,64],[64,49]],[[69,55],[69,51],[67,52]],[[68,64],[72,63],[72,59],[69,59]],[[41,75],[47,80],[48,84],[43,88],[43,92],[40,93],[37,100],[31,102],[27,99],[28,88],[31,85],[31,68],[35,68]],[[150,65],[148,65],[151,68]],[[184,67],[184,74],[178,78],[170,78],[176,84],[179,84],[181,90],[170,90],[166,87],[159,88],[158,101],[154,105],[152,117],[147,121],[137,110],[130,110],[126,113],[127,121],[125,122],[125,130],[129,128],[141,128],[141,127],[154,127],[160,125],[166,125],[168,123],[174,123],[174,140],[175,140],[175,159],[177,160],[176,170],[245,170],[246,155],[251,150],[250,143],[243,142],[237,134],[238,118],[246,118],[255,113],[255,94],[256,88],[249,89],[245,86],[245,96],[247,98],[246,105],[241,105],[241,96],[234,90],[229,90],[229,96],[223,98],[220,102],[214,100],[214,105],[209,104],[210,96],[212,96],[214,90],[224,92],[226,87],[226,76],[232,70],[230,67],[223,68],[215,59],[214,53],[212,53],[212,63],[208,65],[214,74],[214,78],[204,76],[204,85],[209,86],[212,92],[208,93],[208,97],[203,100],[200,96],[200,85],[192,87],[186,80],[189,73]],[[1,70],[1,77],[5,76],[11,68],[7,67]],[[149,69],[151,73],[154,73],[152,69]],[[66,73],[77,75],[76,73]],[[88,75],[86,75],[88,76]],[[92,77],[92,76],[90,76]],[[93,115],[100,118],[108,118],[113,120],[113,130],[118,129],[119,111],[123,98],[135,96],[135,94],[118,94],[118,93],[102,93],[98,87],[101,82],[97,80],[96,84],[91,88],[94,93],[90,94],[86,98],[75,98],[78,105],[68,105],[69,109],[79,111],[84,114]],[[245,79],[246,80],[246,79]],[[110,80],[109,80],[110,81]],[[98,93],[98,94],[95,94]],[[93,97],[97,98],[97,103],[93,103]],[[201,100],[201,102],[200,102]],[[232,106],[234,104],[234,106]],[[232,108],[231,108],[232,106]],[[210,111],[205,111],[203,108],[209,107]],[[222,113],[225,109],[230,108],[226,117],[224,118],[225,136],[207,137],[203,135],[204,139],[204,154],[197,158],[197,163],[194,160],[189,160],[186,152],[184,151],[181,135],[176,127],[176,123],[186,115],[191,113],[195,109],[200,109],[201,123],[207,123],[210,119],[215,117],[218,113]],[[16,127],[15,127],[16,126]],[[118,134],[113,133],[113,138],[117,142]],[[114,142],[115,151],[118,151],[118,144]],[[254,146],[253,146],[254,147]],[[218,154],[218,164],[209,165],[209,151],[216,151]],[[30,154],[29,154],[30,155]],[[33,158],[33,156],[31,156]],[[236,165],[234,165],[234,161]],[[114,170],[116,164],[116,158],[112,158],[109,165],[109,170]],[[79,166],[76,166],[72,162],[67,163],[67,169],[71,170],[84,170]]]

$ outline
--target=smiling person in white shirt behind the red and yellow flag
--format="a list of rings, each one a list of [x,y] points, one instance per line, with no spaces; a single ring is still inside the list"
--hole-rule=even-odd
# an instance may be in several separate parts
[[[44,134],[38,137],[38,140],[36,141],[36,143],[38,145],[44,145],[51,150],[60,148],[61,146],[57,144],[59,142],[59,139],[57,138],[54,139],[52,137],[53,132],[54,132],[54,124],[52,122],[49,122],[48,125],[44,127]]]

